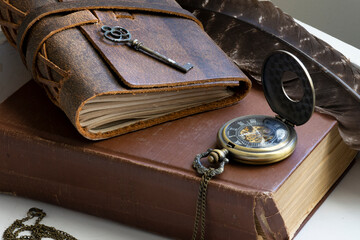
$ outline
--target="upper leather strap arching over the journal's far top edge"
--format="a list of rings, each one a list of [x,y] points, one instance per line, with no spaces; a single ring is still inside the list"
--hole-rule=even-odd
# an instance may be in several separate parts
[[[107,0],[107,1],[79,0],[79,1],[70,1],[70,2],[57,2],[32,10],[25,17],[24,21],[20,25],[18,29],[16,42],[23,61],[25,62],[25,53],[26,53],[26,49],[23,49],[24,40],[27,37],[29,30],[36,22],[52,14],[74,12],[81,10],[101,10],[101,9],[162,13],[162,14],[178,16],[193,20],[202,27],[201,22],[197,18],[195,18],[194,15],[182,9],[181,7],[175,7],[171,5],[159,4],[154,2],[133,2],[127,0]]]

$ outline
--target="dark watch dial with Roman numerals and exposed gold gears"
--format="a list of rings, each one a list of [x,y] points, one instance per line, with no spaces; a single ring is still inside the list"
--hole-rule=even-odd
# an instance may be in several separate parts
[[[269,148],[286,140],[289,129],[275,118],[249,116],[230,123],[225,128],[225,136],[231,143],[241,147]]]

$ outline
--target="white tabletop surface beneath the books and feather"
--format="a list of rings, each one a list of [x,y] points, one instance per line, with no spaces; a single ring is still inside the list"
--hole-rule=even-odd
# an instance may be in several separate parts
[[[329,42],[343,52],[351,61],[360,66],[360,50],[332,38],[316,29],[306,26],[315,35]],[[2,43],[0,35],[0,102],[30,79],[30,75],[22,67],[15,49]],[[6,49],[6,52],[4,52]],[[9,70],[13,63],[18,62],[16,70]],[[6,70],[6,71],[5,71]],[[11,78],[9,77],[11,76]],[[10,81],[11,79],[11,81]],[[360,159],[360,157],[358,157]],[[158,235],[133,229],[116,222],[97,218],[87,214],[71,211],[43,202],[21,197],[0,194],[0,235],[15,219],[25,216],[32,207],[44,209],[47,217],[43,224],[66,231],[79,240],[136,240],[136,239],[167,239]],[[360,162],[355,161],[353,167],[336,186],[324,203],[307,222],[296,240],[312,239],[359,239],[360,237]]]

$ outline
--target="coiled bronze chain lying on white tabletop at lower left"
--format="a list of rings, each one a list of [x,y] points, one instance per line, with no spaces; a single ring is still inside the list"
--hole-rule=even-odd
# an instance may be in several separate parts
[[[23,219],[16,220],[3,234],[4,240],[41,240],[43,238],[50,238],[54,240],[77,240],[70,234],[57,230],[54,227],[49,227],[40,224],[40,221],[46,216],[46,213],[38,208],[29,209],[27,216]],[[25,222],[36,217],[34,225],[26,225]],[[20,235],[23,232],[30,232],[30,235]]]

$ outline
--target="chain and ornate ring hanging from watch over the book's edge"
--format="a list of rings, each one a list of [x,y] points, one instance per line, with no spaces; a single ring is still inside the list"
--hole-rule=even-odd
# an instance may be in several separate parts
[[[194,162],[193,162],[193,168],[196,169],[196,171],[202,175],[200,187],[199,187],[199,193],[198,193],[198,199],[196,203],[196,212],[195,212],[195,221],[194,221],[194,228],[193,228],[193,234],[192,234],[192,240],[196,240],[196,237],[198,235],[199,230],[199,223],[201,224],[201,233],[200,233],[200,239],[205,239],[205,228],[206,228],[206,199],[207,199],[207,188],[210,180],[216,176],[221,174],[224,171],[224,166],[226,163],[229,162],[227,158],[221,158],[220,164],[218,168],[206,168],[202,165],[200,159],[207,157],[210,155],[210,153],[213,152],[213,149],[208,149],[206,152],[196,155]]]

